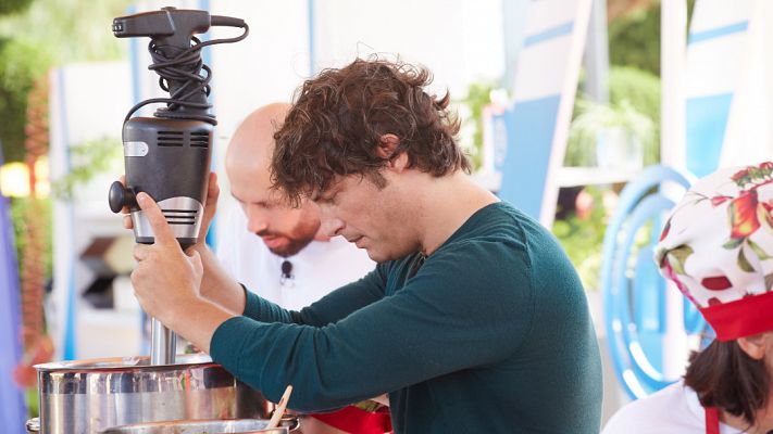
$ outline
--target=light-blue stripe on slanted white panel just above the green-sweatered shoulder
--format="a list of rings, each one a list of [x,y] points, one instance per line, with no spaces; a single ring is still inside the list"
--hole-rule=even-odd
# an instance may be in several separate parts
[[[508,151],[501,199],[539,220],[561,95],[516,103],[506,112]]]

